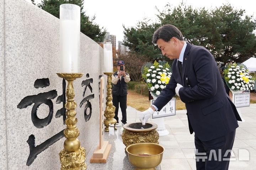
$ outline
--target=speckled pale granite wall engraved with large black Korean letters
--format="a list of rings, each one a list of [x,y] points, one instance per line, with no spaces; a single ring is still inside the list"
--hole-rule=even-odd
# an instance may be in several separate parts
[[[0,167],[60,169],[58,154],[63,149],[65,137],[53,142],[53,138],[58,138],[58,133],[62,134],[66,128],[63,116],[56,115],[63,108],[59,96],[63,88],[66,89],[63,79],[56,74],[59,72],[59,19],[25,0],[15,3],[0,0],[0,14],[0,111],[4,115],[0,118],[4,132],[0,134]],[[103,74],[103,49],[82,33],[80,41],[80,72],[84,75],[74,81],[76,125],[80,130],[81,146],[88,153],[99,134],[98,83]],[[40,79],[48,81],[47,85],[39,83],[42,86],[37,87]],[[83,86],[86,81],[91,83]],[[89,95],[91,98],[82,104]],[[35,103],[39,103],[38,109]],[[87,103],[91,103],[91,109],[86,109],[85,116]],[[34,161],[33,157],[29,158],[30,147],[35,152],[43,150]],[[90,158],[86,158],[86,162],[89,161]]]

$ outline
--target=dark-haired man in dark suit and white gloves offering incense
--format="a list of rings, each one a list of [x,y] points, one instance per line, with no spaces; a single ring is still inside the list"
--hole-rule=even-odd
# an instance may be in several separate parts
[[[155,31],[152,42],[174,62],[169,83],[140,121],[145,124],[177,94],[186,104],[189,130],[194,132],[197,170],[227,170],[241,118],[225,92],[214,57],[204,47],[185,43],[180,30],[169,24]]]

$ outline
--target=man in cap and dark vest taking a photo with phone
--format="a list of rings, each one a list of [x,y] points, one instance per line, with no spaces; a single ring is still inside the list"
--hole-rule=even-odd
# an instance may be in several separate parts
[[[113,105],[116,107],[114,118],[118,121],[118,109],[119,103],[122,111],[122,123],[126,124],[126,102],[127,102],[127,83],[130,81],[130,76],[128,73],[124,71],[124,61],[120,60],[117,62],[117,72],[114,72],[112,75],[111,82],[113,83],[112,88],[112,97],[113,97]]]

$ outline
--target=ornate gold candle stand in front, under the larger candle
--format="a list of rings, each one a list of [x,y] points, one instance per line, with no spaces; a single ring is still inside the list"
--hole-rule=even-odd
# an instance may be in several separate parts
[[[76,102],[74,101],[75,91],[73,81],[82,77],[83,73],[57,73],[60,78],[68,81],[66,90],[67,102],[65,103],[66,111],[66,129],[64,136],[64,149],[60,151],[60,163],[62,164],[61,170],[86,170],[85,164],[85,149],[80,146],[80,141],[77,138],[80,134],[79,129],[76,128],[77,118],[76,115]]]

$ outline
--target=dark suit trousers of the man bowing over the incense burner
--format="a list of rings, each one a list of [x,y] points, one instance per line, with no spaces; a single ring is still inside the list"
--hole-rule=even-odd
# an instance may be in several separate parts
[[[195,136],[197,170],[228,170],[234,139],[235,130],[225,136],[205,142]]]

